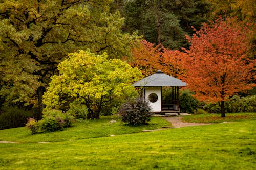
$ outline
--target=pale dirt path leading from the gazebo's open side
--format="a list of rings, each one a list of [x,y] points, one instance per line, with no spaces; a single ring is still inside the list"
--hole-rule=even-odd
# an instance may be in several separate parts
[[[211,124],[204,124],[204,123],[187,123],[181,122],[182,117],[170,116],[170,117],[162,117],[163,119],[167,120],[168,122],[172,123],[173,127],[186,127],[186,126],[200,126],[200,125],[211,125]]]

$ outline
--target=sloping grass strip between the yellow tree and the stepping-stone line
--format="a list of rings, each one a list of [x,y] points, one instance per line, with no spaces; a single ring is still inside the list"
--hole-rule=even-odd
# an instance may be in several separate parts
[[[110,123],[111,120],[116,122]],[[170,123],[159,117],[152,117],[148,125],[126,126],[115,116],[104,116],[88,122],[74,123],[73,127],[63,131],[31,135],[26,127],[5,129],[0,131],[0,141],[14,141],[23,143],[58,142],[97,137],[108,137],[110,135],[122,135],[139,133],[142,130],[159,129],[162,126],[170,126]]]

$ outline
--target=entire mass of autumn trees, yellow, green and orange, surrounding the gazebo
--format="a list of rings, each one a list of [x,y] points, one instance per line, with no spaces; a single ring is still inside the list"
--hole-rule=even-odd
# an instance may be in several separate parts
[[[86,105],[98,118],[133,94],[126,83],[158,69],[223,113],[232,95],[255,95],[255,11],[253,0],[0,0],[1,113]]]

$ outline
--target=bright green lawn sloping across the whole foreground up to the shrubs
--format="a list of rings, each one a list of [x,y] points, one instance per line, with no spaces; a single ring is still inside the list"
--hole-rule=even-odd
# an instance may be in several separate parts
[[[159,117],[153,122],[149,128],[168,124]],[[256,120],[138,133],[141,129],[147,127],[130,129],[102,119],[87,128],[76,123],[37,135],[25,128],[1,130],[0,140],[21,143],[0,143],[0,169],[255,168]]]

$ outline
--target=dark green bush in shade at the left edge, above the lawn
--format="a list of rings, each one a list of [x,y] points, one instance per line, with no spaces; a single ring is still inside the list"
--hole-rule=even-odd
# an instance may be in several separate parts
[[[22,110],[17,107],[4,109],[0,114],[0,129],[23,127],[27,118],[35,116],[35,110]]]

